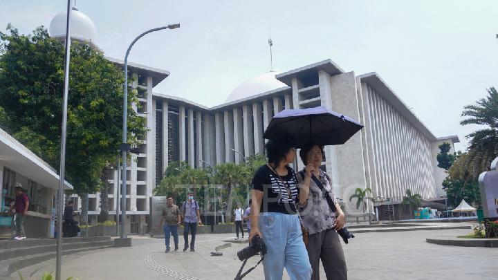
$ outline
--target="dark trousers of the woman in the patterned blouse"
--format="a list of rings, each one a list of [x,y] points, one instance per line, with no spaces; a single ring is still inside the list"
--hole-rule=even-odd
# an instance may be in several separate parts
[[[320,259],[327,279],[347,279],[346,259],[339,234],[335,230],[324,230],[308,236],[306,250],[313,269],[312,280],[320,279]]]

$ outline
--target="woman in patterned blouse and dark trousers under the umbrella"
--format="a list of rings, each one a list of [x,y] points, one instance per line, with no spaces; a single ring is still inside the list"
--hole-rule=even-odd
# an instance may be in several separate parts
[[[304,227],[308,231],[308,243],[306,250],[313,269],[311,279],[320,279],[320,259],[325,270],[327,279],[347,279],[347,266],[344,252],[340,243],[339,234],[336,230],[344,227],[344,213],[338,203],[335,203],[335,212],[324,199],[322,188],[329,192],[334,198],[331,188],[331,180],[320,165],[322,164],[324,147],[314,142],[309,142],[299,151],[299,156],[306,165],[306,169],[297,173],[297,182],[308,189],[308,200],[300,205]],[[313,170],[315,176],[311,180],[306,170]],[[318,186],[322,184],[322,188]]]

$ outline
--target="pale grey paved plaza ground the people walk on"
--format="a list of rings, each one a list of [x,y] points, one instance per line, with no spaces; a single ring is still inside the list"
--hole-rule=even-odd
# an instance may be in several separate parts
[[[343,244],[349,279],[497,279],[497,248],[466,248],[426,243],[426,238],[468,234],[470,230],[358,233]],[[237,251],[247,244],[230,243],[223,256],[210,252],[234,234],[199,234],[196,252],[165,254],[162,239],[133,237],[132,248],[109,248],[64,256],[62,275],[84,279],[233,279],[241,262]],[[180,237],[183,241],[183,237]],[[257,261],[253,257],[248,267]],[[55,260],[21,270],[40,279]],[[246,279],[264,279],[259,266]],[[284,273],[284,279],[288,279]],[[322,271],[322,279],[326,279]]]

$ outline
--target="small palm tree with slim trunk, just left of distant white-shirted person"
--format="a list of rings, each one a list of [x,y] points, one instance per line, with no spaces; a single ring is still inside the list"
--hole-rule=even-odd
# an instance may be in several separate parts
[[[239,165],[232,162],[222,163],[214,167],[215,174],[213,180],[217,184],[225,185],[228,191],[228,204],[226,217],[232,221],[233,186],[241,181],[242,170]]]

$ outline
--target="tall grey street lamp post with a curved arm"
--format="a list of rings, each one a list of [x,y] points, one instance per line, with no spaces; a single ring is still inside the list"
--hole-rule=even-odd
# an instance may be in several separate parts
[[[129,151],[129,144],[127,139],[127,118],[128,118],[128,55],[131,47],[138,41],[138,39],[149,34],[150,32],[163,30],[163,29],[174,29],[179,28],[180,24],[169,24],[168,26],[162,26],[158,28],[152,28],[138,35],[131,44],[129,45],[126,55],[124,55],[124,94],[123,94],[123,131],[122,131],[122,144],[120,145],[120,151],[122,152],[122,207],[121,207],[121,238],[127,238],[126,231],[126,185],[127,185],[127,151]]]

